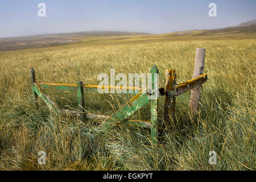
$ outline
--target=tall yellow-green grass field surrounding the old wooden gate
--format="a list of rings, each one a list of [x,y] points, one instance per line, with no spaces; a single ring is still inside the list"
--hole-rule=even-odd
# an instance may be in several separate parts
[[[176,33],[175,33],[176,34]],[[200,32],[198,32],[200,34]],[[216,36],[122,35],[62,46],[0,52],[0,169],[2,170],[255,170],[255,31]],[[150,132],[127,124],[99,133],[100,120],[79,121],[32,101],[36,81],[98,84],[100,73],[149,73],[174,68],[177,82],[193,75],[196,48],[206,48],[200,113],[189,114],[190,93],[177,97],[176,118],[154,147]],[[77,109],[76,92],[46,90],[64,109]],[[110,115],[131,96],[85,93],[85,109]],[[163,117],[164,98],[159,100]],[[134,115],[149,119],[149,106]],[[38,152],[46,151],[46,165]],[[216,165],[208,163],[216,151]]]

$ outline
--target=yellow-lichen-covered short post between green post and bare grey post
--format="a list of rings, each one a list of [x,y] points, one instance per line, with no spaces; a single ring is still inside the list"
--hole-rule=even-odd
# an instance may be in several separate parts
[[[170,122],[175,122],[175,96],[174,86],[176,84],[175,69],[166,70],[166,100],[164,102],[164,122],[170,126]]]

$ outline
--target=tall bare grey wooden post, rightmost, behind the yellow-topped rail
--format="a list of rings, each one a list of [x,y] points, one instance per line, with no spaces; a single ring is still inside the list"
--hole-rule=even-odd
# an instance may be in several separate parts
[[[196,59],[195,59],[193,78],[203,75],[204,59],[205,59],[205,48],[196,48]],[[198,85],[191,90],[189,107],[191,107],[193,114],[197,114],[199,111],[200,90],[201,90],[201,85]]]

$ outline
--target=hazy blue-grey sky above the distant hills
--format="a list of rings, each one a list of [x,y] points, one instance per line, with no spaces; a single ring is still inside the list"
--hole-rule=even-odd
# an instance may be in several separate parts
[[[46,4],[46,17],[38,4]],[[209,3],[217,17],[209,17]],[[92,30],[160,34],[256,19],[255,0],[0,0],[0,38]]]

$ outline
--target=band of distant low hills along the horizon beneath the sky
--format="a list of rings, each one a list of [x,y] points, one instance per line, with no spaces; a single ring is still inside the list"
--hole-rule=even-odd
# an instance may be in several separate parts
[[[84,31],[60,34],[45,34],[20,36],[14,38],[0,38],[0,51],[10,51],[24,48],[57,46],[71,43],[106,43],[123,42],[132,38],[138,41],[151,40],[197,40],[197,39],[242,39],[256,38],[256,20],[241,23],[237,26],[217,28],[212,30],[177,31],[168,34],[151,35],[145,32],[122,31]]]

